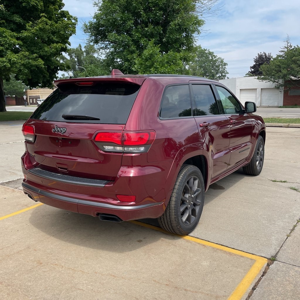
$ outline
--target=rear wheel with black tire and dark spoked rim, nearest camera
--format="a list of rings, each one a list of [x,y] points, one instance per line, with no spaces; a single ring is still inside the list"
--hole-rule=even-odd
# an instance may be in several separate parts
[[[200,170],[192,165],[183,165],[167,208],[158,218],[161,228],[179,235],[192,232],[202,213],[204,192],[204,180]]]

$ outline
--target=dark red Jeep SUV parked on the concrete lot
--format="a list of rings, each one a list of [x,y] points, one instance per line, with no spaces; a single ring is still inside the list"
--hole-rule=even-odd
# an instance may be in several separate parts
[[[118,74],[118,75],[116,75]],[[73,78],[23,125],[23,190],[54,207],[187,234],[209,185],[258,175],[265,124],[221,83],[183,75]]]

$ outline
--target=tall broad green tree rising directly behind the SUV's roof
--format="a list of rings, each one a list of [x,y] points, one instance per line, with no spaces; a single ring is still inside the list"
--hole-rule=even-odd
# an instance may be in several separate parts
[[[205,2],[206,6],[201,6]],[[97,0],[98,11],[83,27],[105,55],[108,69],[123,73],[185,73],[204,20],[200,0]]]

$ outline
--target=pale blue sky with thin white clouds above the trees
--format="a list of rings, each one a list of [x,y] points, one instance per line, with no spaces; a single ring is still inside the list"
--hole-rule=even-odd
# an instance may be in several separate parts
[[[65,10],[78,17],[71,46],[85,44],[83,22],[92,19],[92,0],[63,0]],[[130,4],[130,1],[128,1]],[[220,0],[219,15],[206,20],[198,44],[228,63],[229,78],[243,77],[259,52],[275,56],[287,34],[292,45],[300,45],[299,0]]]

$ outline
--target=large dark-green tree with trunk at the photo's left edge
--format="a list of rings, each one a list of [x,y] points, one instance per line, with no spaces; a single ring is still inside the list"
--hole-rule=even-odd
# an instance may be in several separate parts
[[[25,85],[51,87],[76,31],[76,17],[62,0],[0,0],[0,111],[5,109],[3,80],[10,74]]]

